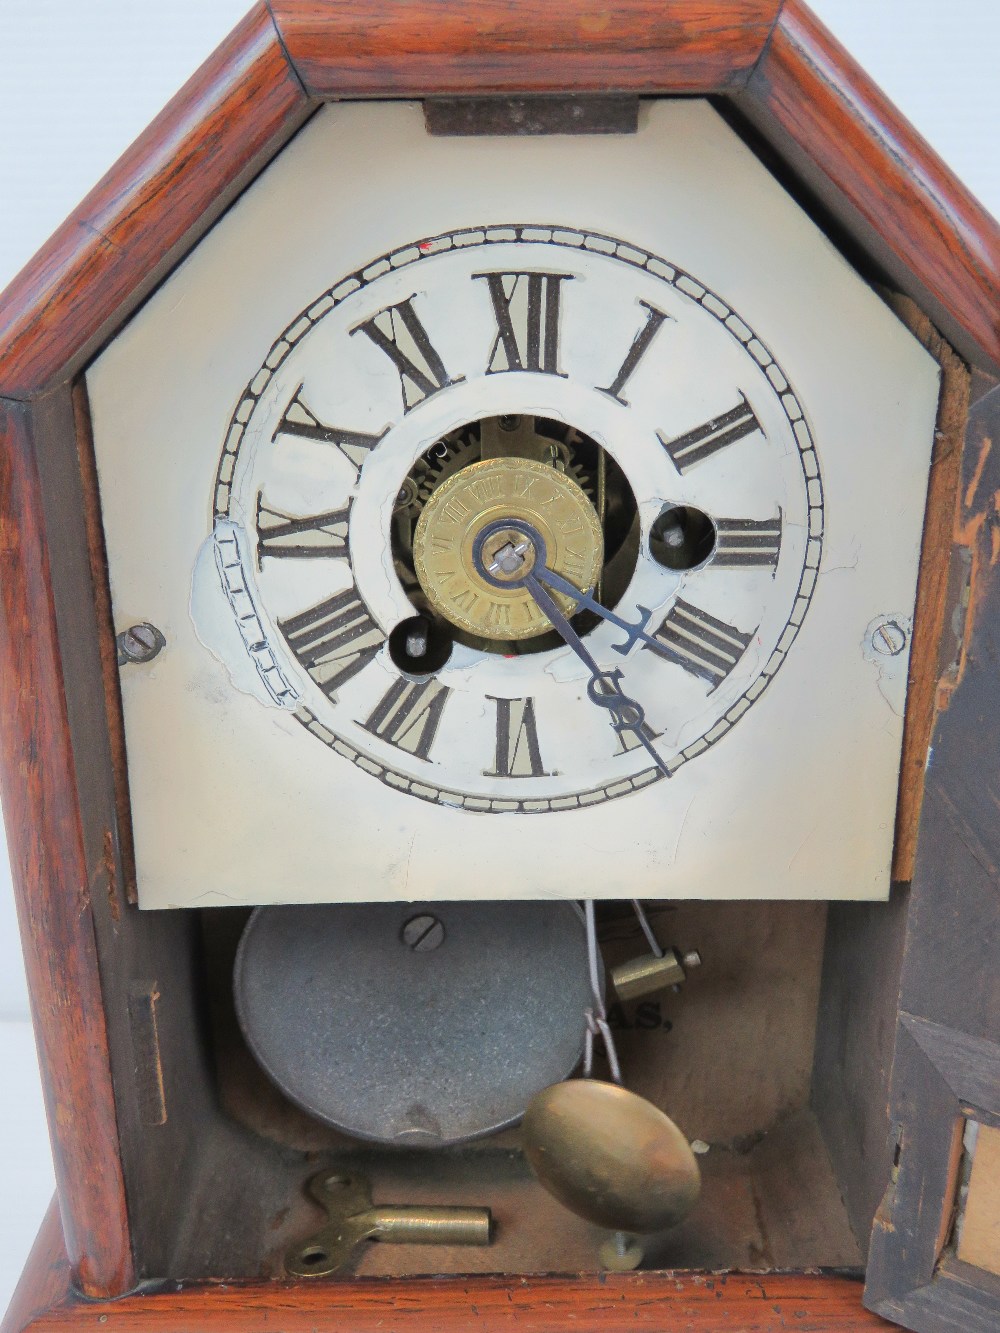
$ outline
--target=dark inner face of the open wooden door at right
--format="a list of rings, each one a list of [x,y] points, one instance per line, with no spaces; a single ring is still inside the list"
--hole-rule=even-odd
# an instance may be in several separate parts
[[[937,716],[907,920],[889,1089],[895,1170],[872,1234],[869,1308],[920,1333],[997,1326],[1000,1278],[956,1257],[967,1120],[1000,1125],[1000,385],[973,405],[960,531],[964,651]],[[992,1182],[996,1189],[996,1181]]]

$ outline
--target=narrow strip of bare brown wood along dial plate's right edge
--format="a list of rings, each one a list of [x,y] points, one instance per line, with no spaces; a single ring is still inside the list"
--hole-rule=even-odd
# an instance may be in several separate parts
[[[889,296],[888,300],[911,333],[941,367],[941,392],[920,544],[892,853],[892,878],[908,882],[913,878],[916,861],[927,756],[939,708],[939,682],[956,659],[953,636],[951,645],[943,640],[947,615],[953,609],[955,589],[949,576],[953,547],[960,535],[959,500],[971,376],[965,363],[909,297]]]

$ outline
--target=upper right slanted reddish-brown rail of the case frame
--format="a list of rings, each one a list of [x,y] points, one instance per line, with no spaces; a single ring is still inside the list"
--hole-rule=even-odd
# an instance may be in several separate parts
[[[1000,224],[803,0],[785,0],[737,108],[959,352],[1000,368]],[[809,179],[812,177],[812,180]]]

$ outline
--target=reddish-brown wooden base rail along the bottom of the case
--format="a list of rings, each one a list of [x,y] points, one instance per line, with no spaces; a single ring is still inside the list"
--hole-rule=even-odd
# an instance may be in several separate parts
[[[55,1209],[43,1222],[0,1333],[385,1333],[432,1328],[517,1328],[563,1333],[600,1328],[661,1333],[664,1317],[689,1333],[855,1333],[884,1329],[861,1306],[861,1284],[819,1273],[628,1273],[600,1277],[368,1278],[328,1282],[171,1284],[117,1301],[83,1301],[69,1284]]]

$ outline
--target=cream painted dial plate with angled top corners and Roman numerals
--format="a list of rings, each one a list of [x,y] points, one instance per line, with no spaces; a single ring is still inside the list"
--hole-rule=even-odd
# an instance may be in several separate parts
[[[141,905],[883,897],[937,379],[705,103],[321,109],[87,375]]]

